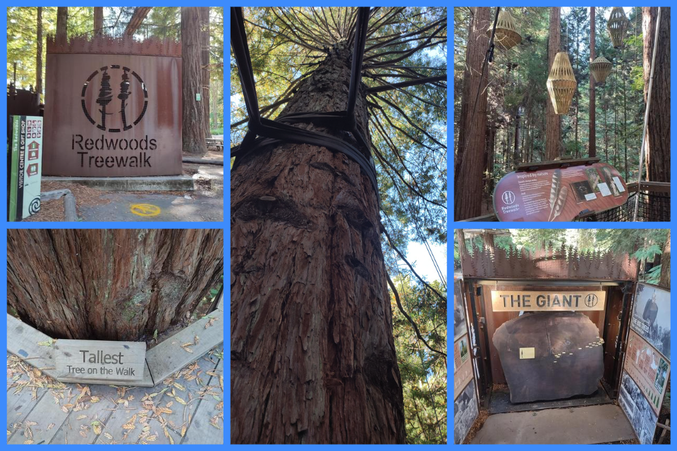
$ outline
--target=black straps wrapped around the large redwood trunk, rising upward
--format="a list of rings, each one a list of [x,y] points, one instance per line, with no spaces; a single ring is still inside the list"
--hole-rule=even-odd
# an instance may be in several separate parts
[[[235,54],[238,72],[240,73],[240,85],[242,86],[243,98],[249,115],[248,132],[240,145],[231,149],[231,157],[235,158],[233,171],[243,156],[255,152],[257,149],[267,148],[272,144],[281,142],[293,142],[297,144],[312,144],[326,147],[331,152],[341,152],[360,165],[362,173],[367,175],[380,205],[379,187],[377,183],[376,166],[370,156],[370,146],[358,130],[355,121],[355,103],[357,101],[358,87],[362,78],[362,59],[367,42],[367,25],[369,25],[370,8],[359,8],[358,18],[355,23],[355,46],[353,49],[353,61],[350,73],[350,87],[348,91],[348,107],[346,111],[329,111],[326,113],[313,111],[300,111],[290,113],[271,121],[262,118],[259,111],[254,71],[245,34],[245,21],[242,8],[231,8],[231,45]],[[302,128],[288,125],[287,123],[318,123],[331,125],[332,128],[346,130],[353,134],[358,145],[366,153],[352,144],[339,140],[327,133],[312,132]]]

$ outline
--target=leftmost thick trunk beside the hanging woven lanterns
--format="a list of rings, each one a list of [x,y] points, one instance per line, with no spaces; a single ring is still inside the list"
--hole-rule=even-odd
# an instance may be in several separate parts
[[[462,128],[458,137],[461,162],[454,174],[453,211],[456,221],[482,214],[482,161],[484,159],[484,132],[487,129],[487,80],[489,64],[482,66],[489,49],[487,27],[489,8],[472,8],[468,28],[468,47],[465,51],[463,98],[461,104]],[[482,80],[480,86],[480,79]],[[477,98],[479,92],[479,98]],[[477,99],[477,107],[475,107]],[[473,114],[474,111],[474,114]],[[467,145],[466,145],[467,143]]]

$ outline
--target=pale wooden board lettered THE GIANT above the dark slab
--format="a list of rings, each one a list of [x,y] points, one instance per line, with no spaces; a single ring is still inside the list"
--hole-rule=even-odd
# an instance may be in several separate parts
[[[494,311],[602,311],[604,291],[492,291]]]

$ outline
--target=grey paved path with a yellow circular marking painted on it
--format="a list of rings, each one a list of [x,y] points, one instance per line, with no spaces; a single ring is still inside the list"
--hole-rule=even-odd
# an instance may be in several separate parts
[[[189,196],[190,198],[186,198]],[[207,197],[186,192],[182,195],[157,192],[102,194],[99,205],[79,206],[83,221],[223,221],[222,194]]]

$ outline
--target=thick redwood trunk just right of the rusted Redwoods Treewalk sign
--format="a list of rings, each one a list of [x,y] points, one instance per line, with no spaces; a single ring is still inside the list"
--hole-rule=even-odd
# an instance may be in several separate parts
[[[183,61],[183,152],[205,154],[204,101],[202,94],[202,68],[200,62],[200,8],[181,7],[181,59]]]

